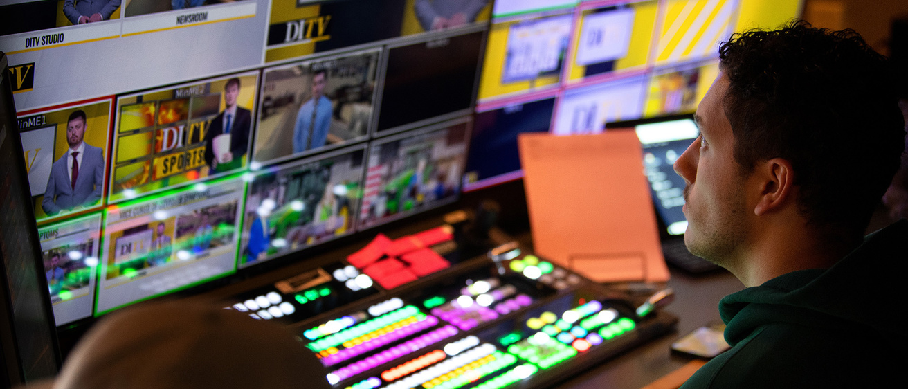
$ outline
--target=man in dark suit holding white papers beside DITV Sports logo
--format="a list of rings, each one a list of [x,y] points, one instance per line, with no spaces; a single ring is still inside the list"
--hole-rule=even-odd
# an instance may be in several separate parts
[[[226,172],[242,167],[246,150],[249,148],[249,129],[252,127],[252,113],[239,105],[240,79],[233,77],[224,85],[224,110],[214,116],[205,133],[205,163],[209,174]],[[230,150],[218,150],[214,144],[230,145]]]

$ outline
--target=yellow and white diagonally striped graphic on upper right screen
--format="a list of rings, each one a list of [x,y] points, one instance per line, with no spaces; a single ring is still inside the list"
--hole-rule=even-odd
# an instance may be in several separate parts
[[[656,45],[656,65],[717,55],[734,28],[735,0],[669,0]]]

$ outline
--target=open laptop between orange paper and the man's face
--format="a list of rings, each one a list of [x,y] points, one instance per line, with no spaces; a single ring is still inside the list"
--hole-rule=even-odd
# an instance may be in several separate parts
[[[607,128],[622,127],[633,127],[643,146],[644,173],[656,207],[659,237],[666,262],[692,274],[719,269],[718,265],[690,254],[684,244],[687,229],[687,220],[682,211],[685,183],[675,173],[673,165],[699,135],[693,115],[673,115],[607,125]]]

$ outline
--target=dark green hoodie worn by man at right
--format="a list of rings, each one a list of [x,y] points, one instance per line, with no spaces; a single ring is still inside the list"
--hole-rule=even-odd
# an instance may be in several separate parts
[[[906,275],[908,221],[900,220],[828,270],[783,274],[725,296],[719,313],[732,348],[682,388],[903,385]]]

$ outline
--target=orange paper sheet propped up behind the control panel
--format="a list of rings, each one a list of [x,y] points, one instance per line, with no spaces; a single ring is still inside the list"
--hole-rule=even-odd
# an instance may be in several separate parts
[[[527,133],[518,145],[538,254],[600,283],[668,280],[634,131]]]

